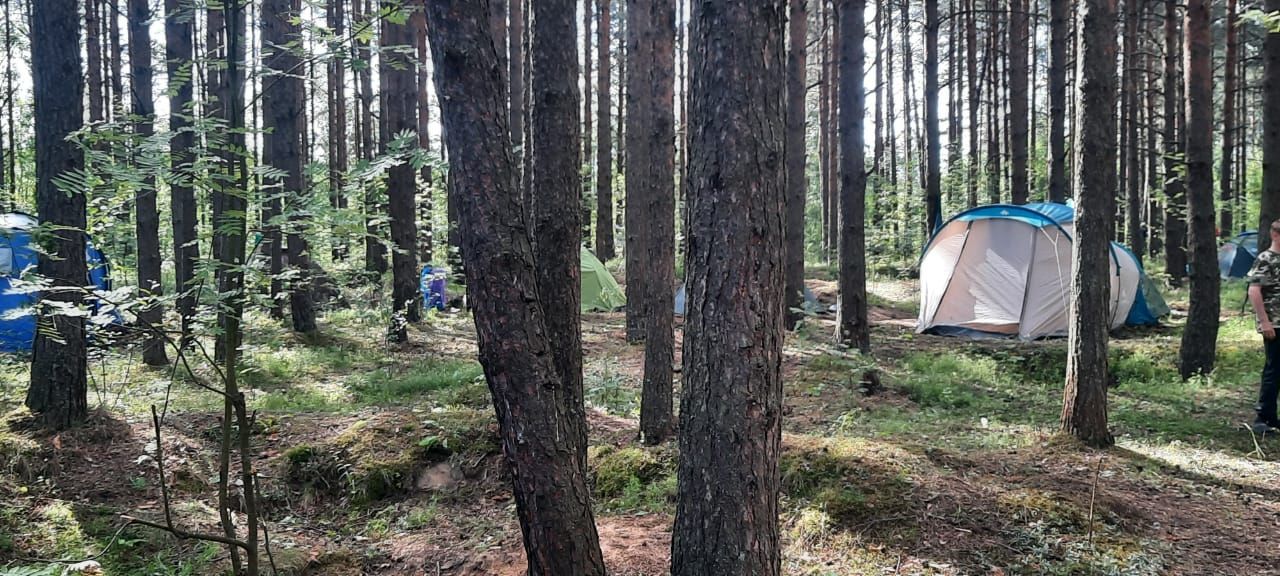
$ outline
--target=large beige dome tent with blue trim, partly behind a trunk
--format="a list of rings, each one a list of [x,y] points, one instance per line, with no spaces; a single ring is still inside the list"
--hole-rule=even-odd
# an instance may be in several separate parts
[[[979,206],[947,220],[920,259],[918,332],[1065,335],[1074,224],[1060,204]],[[1111,328],[1153,323],[1164,298],[1146,293],[1153,284],[1138,259],[1112,243],[1110,260]]]

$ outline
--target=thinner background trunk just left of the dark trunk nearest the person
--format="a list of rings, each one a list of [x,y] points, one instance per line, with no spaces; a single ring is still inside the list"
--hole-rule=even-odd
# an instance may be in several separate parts
[[[1181,55],[1178,20],[1178,0],[1166,0],[1165,131],[1161,143],[1165,156],[1165,271],[1169,274],[1169,282],[1175,287],[1181,285],[1183,279],[1187,278],[1187,220],[1184,218],[1187,214],[1187,197],[1183,183],[1183,134],[1179,125],[1179,106],[1181,106],[1179,93],[1183,77],[1178,68],[1178,59]],[[1277,143],[1280,143],[1280,140],[1277,140]],[[1277,186],[1280,186],[1280,180],[1277,180]],[[1263,198],[1266,198],[1266,195],[1263,195]],[[1276,200],[1280,201],[1280,193],[1276,195]],[[1263,200],[1263,210],[1266,210],[1266,200]]]

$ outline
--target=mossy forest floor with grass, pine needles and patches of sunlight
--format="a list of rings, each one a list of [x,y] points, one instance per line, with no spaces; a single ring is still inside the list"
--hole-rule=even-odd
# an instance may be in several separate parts
[[[872,292],[872,356],[835,349],[829,317],[786,342],[785,573],[1280,573],[1280,443],[1245,428],[1262,356],[1239,285],[1224,291],[1212,378],[1179,380],[1176,312],[1115,337],[1117,443],[1103,452],[1053,434],[1064,340],[916,335],[910,282]],[[522,575],[470,317],[431,315],[388,346],[374,308],[328,314],[311,340],[250,321],[243,379],[279,573]],[[676,448],[636,442],[643,348],[620,314],[586,315],[582,332],[605,562],[666,573]],[[92,422],[38,435],[18,410],[26,361],[0,362],[0,575],[90,557],[106,573],[225,570],[215,545],[119,530],[123,515],[163,517],[152,404],[175,521],[216,527],[216,396],[111,352],[91,362]],[[869,370],[882,385],[864,384]]]

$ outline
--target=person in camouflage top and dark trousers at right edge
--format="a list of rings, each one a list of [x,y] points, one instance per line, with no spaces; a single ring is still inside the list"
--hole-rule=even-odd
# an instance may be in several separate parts
[[[1280,392],[1280,339],[1272,319],[1280,319],[1280,220],[1271,223],[1271,246],[1258,252],[1247,280],[1249,283],[1249,303],[1262,334],[1262,347],[1266,351],[1266,364],[1262,367],[1262,385],[1258,390],[1258,412],[1253,421],[1254,433],[1267,433],[1280,429],[1276,419],[1276,394]]]

